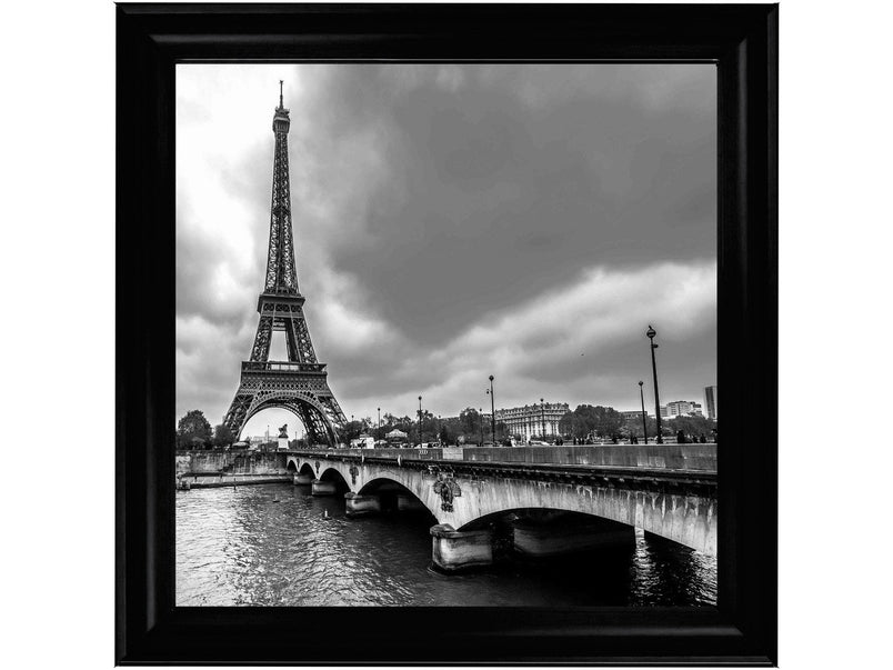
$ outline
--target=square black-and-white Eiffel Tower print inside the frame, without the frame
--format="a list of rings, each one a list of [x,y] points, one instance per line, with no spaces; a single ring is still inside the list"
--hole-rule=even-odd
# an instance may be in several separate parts
[[[714,64],[177,91],[178,604],[715,604]]]

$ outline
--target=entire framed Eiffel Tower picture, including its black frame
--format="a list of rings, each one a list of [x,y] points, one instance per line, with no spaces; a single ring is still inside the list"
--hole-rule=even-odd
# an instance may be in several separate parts
[[[117,11],[119,663],[775,662],[776,6]]]

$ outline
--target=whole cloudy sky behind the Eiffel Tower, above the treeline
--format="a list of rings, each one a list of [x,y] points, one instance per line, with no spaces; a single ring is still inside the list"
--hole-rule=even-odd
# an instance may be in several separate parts
[[[706,64],[178,66],[177,416],[258,323],[284,80],[298,279],[348,418],[703,402],[716,381]],[[281,333],[271,359],[285,359]],[[280,341],[281,340],[281,341]],[[653,411],[653,410],[652,410]],[[297,419],[270,410],[249,434]]]

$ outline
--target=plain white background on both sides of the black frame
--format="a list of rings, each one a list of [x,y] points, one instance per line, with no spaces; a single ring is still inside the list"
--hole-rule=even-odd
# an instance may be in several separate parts
[[[884,2],[782,3],[780,667],[791,670],[891,667],[892,24]],[[3,27],[3,664],[110,667],[114,10],[17,2]]]

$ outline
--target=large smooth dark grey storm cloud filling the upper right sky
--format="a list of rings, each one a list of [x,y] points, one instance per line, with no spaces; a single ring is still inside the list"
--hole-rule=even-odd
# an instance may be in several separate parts
[[[321,100],[320,117],[339,110],[328,124],[335,138],[387,120],[379,151],[390,179],[367,221],[374,238],[331,249],[377,312],[442,342],[591,264],[713,253],[711,86],[696,106],[663,113],[632,93],[600,99],[592,83],[530,107],[514,86],[521,69],[502,86],[479,70],[463,69],[459,91],[433,76],[395,94],[383,70],[359,68],[332,77]]]

